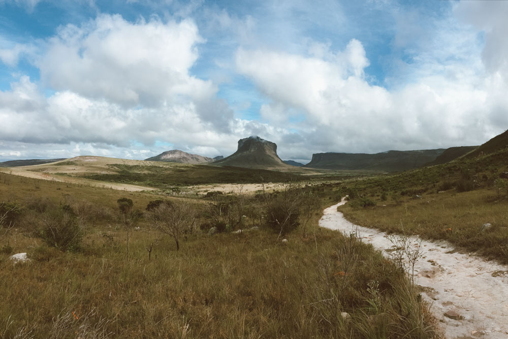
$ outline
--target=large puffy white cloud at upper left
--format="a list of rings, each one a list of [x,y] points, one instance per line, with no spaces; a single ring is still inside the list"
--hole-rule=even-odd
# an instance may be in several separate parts
[[[55,90],[123,109],[192,102],[203,120],[227,129],[233,112],[216,99],[217,86],[189,74],[202,41],[192,20],[131,23],[101,15],[61,27],[38,66],[43,83]]]

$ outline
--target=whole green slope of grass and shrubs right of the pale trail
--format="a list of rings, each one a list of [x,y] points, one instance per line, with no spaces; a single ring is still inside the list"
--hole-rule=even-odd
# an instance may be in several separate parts
[[[500,178],[508,171],[506,159],[508,150],[501,149],[398,175],[349,181],[342,192],[352,194],[352,203],[341,211],[361,226],[445,239],[464,251],[508,263],[508,192]],[[482,230],[486,223],[492,227]]]

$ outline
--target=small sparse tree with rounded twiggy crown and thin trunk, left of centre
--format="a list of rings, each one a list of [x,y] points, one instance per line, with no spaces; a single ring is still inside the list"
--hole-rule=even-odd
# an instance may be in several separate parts
[[[192,226],[196,211],[190,203],[164,202],[148,212],[149,220],[160,232],[171,236],[176,243],[176,250],[180,250],[180,236]]]

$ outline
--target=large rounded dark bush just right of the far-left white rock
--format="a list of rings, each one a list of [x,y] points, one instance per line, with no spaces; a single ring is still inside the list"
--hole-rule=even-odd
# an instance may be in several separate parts
[[[36,235],[48,246],[62,252],[76,251],[80,248],[83,239],[81,225],[76,214],[63,206],[44,213],[43,227],[36,232]]]

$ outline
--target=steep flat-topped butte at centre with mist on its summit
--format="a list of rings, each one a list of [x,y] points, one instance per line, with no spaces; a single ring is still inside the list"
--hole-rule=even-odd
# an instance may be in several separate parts
[[[238,149],[231,156],[217,160],[213,165],[245,168],[289,168],[277,156],[277,145],[258,136],[238,140]]]

